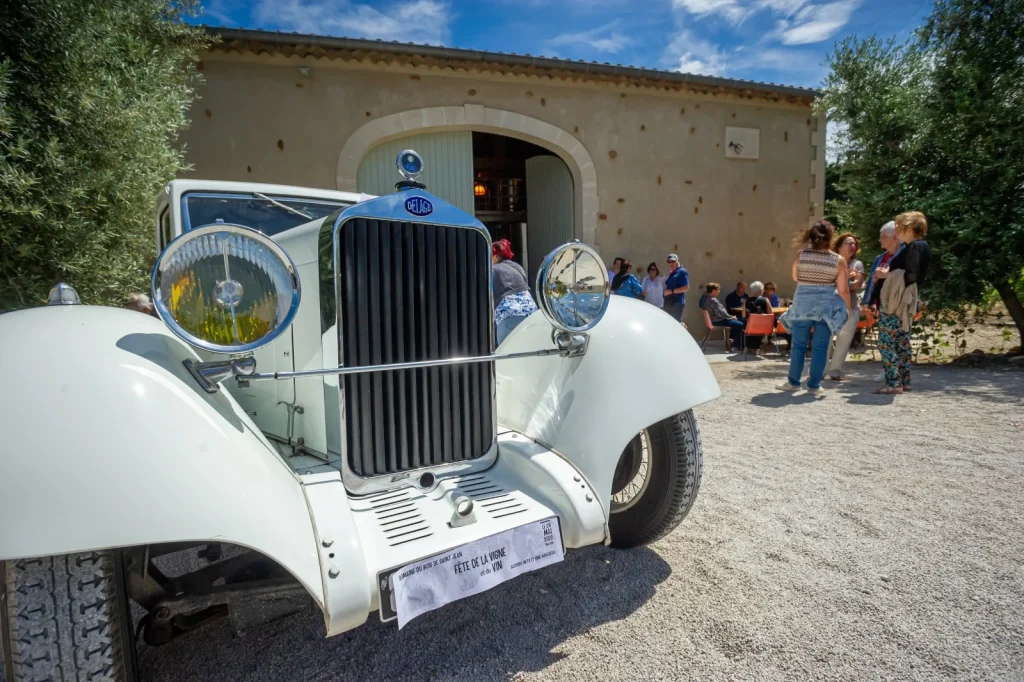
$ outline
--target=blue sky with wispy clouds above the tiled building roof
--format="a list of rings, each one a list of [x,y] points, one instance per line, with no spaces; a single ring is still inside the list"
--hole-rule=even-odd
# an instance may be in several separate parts
[[[816,87],[836,40],[909,37],[931,6],[930,0],[206,0],[198,20]]]

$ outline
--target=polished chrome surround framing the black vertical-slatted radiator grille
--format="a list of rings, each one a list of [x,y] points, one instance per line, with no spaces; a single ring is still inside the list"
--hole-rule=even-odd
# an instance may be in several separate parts
[[[406,200],[412,197],[422,197],[427,199],[433,205],[433,212],[427,216],[417,216],[413,215],[406,210]],[[321,228],[322,235],[323,230],[327,227],[332,216],[328,216],[325,219],[324,225]],[[435,197],[428,191],[419,188],[402,189],[401,191],[396,191],[392,195],[386,195],[384,197],[378,197],[377,199],[371,199],[366,202],[360,202],[354,204],[337,215],[334,220],[334,225],[332,229],[332,258],[333,262],[325,263],[325,254],[323,249],[321,250],[319,258],[319,268],[321,268],[321,282],[324,282],[324,268],[325,266],[330,266],[333,270],[334,279],[334,299],[335,308],[337,310],[337,317],[335,318],[335,324],[337,326],[338,333],[338,357],[336,358],[336,364],[338,368],[342,368],[342,352],[344,348],[344,339],[342,338],[343,330],[343,319],[344,310],[341,306],[341,292],[340,282],[338,281],[338,255],[339,255],[339,236],[341,228],[346,222],[354,218],[368,218],[372,220],[393,220],[398,222],[415,222],[423,225],[438,225],[438,226],[449,226],[449,227],[465,227],[467,229],[476,229],[480,232],[486,240],[487,250],[490,250],[490,232],[483,225],[482,222],[472,217],[462,209],[457,206],[445,202],[439,197]],[[494,299],[494,271],[492,269],[492,263],[488,260],[486,262],[487,268],[487,299],[490,302],[490,309],[495,309],[495,299]],[[323,288],[321,291],[321,296],[324,295]],[[495,348],[495,326],[489,325],[490,328],[490,348],[494,351]],[[479,361],[489,361],[494,356],[488,356],[487,360]],[[327,356],[325,355],[325,361],[327,361]],[[459,358],[459,361],[464,361]],[[450,363],[451,364],[451,363]],[[384,366],[379,366],[384,367]],[[430,366],[427,366],[430,367]],[[358,370],[359,368],[352,368],[352,370]],[[398,368],[400,369],[400,368]],[[335,374],[336,371],[332,370],[330,372],[317,372],[312,371],[313,376],[319,374],[319,376]],[[255,377],[253,377],[255,378]],[[263,378],[263,377],[261,377]],[[272,378],[272,376],[270,377]],[[382,474],[377,476],[359,476],[354,471],[352,471],[348,466],[348,432],[347,425],[345,423],[345,391],[342,387],[342,382],[338,382],[338,409],[340,411],[339,420],[341,424],[341,441],[339,450],[341,451],[341,478],[345,484],[345,488],[353,494],[365,495],[368,493],[375,493],[378,491],[387,491],[398,487],[399,485],[409,484],[414,476],[419,477],[422,473],[429,471],[435,477],[442,478],[445,476],[451,476],[454,474],[465,474],[472,473],[475,471],[482,471],[489,468],[495,460],[498,459],[498,382],[495,376],[495,366],[490,365],[490,416],[492,416],[492,429],[490,429],[490,444],[486,452],[472,460],[466,460],[463,462],[454,462],[451,464],[435,465],[431,467],[424,467],[422,469],[413,469],[408,471],[401,471],[393,474]],[[330,435],[330,434],[329,434]]]

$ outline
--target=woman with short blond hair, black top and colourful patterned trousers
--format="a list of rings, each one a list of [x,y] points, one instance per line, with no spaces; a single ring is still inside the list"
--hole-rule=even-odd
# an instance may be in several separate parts
[[[932,249],[925,241],[927,233],[924,213],[900,213],[896,216],[896,237],[903,249],[888,266],[874,270],[871,302],[879,306],[879,350],[886,371],[886,384],[876,393],[890,395],[910,390],[910,326],[932,262]]]

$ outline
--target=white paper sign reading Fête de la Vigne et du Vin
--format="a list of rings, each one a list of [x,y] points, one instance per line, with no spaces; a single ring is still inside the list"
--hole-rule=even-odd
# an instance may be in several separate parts
[[[402,566],[392,577],[398,629],[417,615],[564,557],[562,534],[553,517]]]

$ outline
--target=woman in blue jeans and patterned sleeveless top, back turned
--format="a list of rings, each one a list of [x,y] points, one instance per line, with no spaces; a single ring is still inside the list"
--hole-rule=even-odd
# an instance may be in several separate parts
[[[834,334],[852,313],[847,262],[830,249],[836,228],[827,220],[818,220],[801,231],[795,241],[800,249],[793,261],[793,280],[797,292],[793,303],[779,318],[793,335],[790,376],[776,386],[780,391],[800,389],[807,346],[811,346],[811,369],[807,392],[821,395],[821,378],[828,363],[828,345]],[[812,341],[813,339],[813,341]]]

